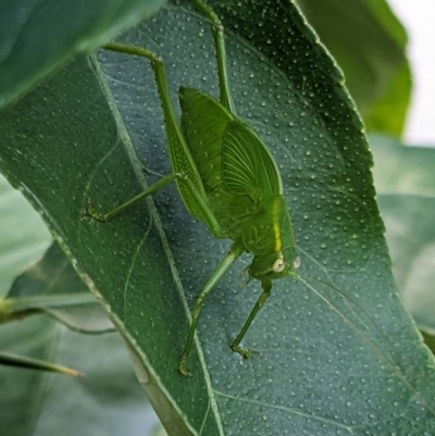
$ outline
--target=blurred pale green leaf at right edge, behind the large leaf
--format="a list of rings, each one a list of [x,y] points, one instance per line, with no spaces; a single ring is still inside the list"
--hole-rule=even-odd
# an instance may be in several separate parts
[[[419,328],[435,334],[435,149],[373,137],[374,177],[393,272]]]

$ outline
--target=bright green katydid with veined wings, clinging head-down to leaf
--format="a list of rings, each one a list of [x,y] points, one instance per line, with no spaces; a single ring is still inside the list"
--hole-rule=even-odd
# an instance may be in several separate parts
[[[245,121],[237,117],[227,77],[223,26],[202,1],[192,3],[213,23],[219,67],[220,101],[194,89],[179,88],[182,119],[178,123],[171,103],[162,60],[153,52],[121,43],[105,48],[150,60],[156,75],[173,174],[115,210],[89,213],[108,221],[127,207],[176,180],[187,211],[207,224],[213,236],[232,239],[231,250],[208,279],[191,313],[191,326],[179,359],[179,371],[189,375],[190,352],[203,301],[233,262],[244,252],[253,256],[247,269],[250,279],[261,282],[262,294],[231,347],[249,358],[251,350],[240,342],[259,310],[268,300],[274,279],[296,276],[299,266],[288,205],[277,165],[266,146]]]

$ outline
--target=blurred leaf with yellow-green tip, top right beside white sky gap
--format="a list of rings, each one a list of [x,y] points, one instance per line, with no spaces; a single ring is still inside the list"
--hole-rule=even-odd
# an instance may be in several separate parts
[[[407,34],[385,0],[299,0],[371,132],[400,136],[412,90]]]

